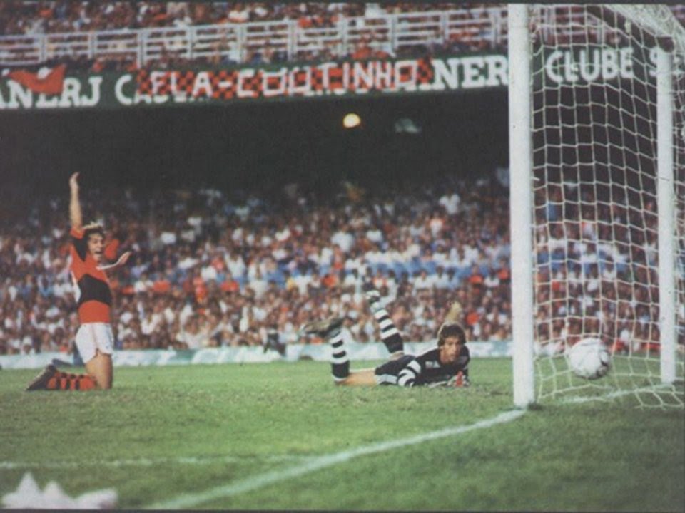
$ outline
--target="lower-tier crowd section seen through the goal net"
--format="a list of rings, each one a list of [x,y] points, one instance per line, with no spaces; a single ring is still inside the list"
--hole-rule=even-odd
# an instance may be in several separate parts
[[[573,181],[538,191],[539,341],[604,333],[615,351],[658,348],[656,197],[644,182],[641,193],[619,182]]]

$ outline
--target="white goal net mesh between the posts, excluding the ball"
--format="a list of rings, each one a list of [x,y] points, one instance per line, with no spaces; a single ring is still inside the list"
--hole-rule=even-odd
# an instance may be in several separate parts
[[[682,407],[685,30],[663,6],[538,6],[531,27],[538,399],[629,395],[645,406]],[[679,331],[676,383],[667,386],[659,369],[656,200],[661,36],[676,41]],[[564,354],[583,338],[599,338],[612,352],[606,377],[584,380],[568,367]]]

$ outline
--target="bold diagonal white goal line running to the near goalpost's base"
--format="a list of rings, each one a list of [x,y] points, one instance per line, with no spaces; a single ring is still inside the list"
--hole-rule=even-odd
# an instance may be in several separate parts
[[[323,469],[325,467],[333,467],[334,465],[338,465],[339,463],[344,463],[349,460],[352,460],[352,458],[355,457],[372,455],[377,452],[385,452],[388,450],[397,449],[398,447],[406,447],[407,445],[420,444],[423,442],[428,442],[430,440],[437,440],[439,438],[444,438],[452,435],[461,435],[465,432],[492,427],[497,424],[508,423],[512,420],[519,418],[524,413],[525,410],[511,410],[505,413],[500,413],[499,415],[497,415],[497,417],[487,420],[481,420],[480,422],[471,425],[447,427],[443,430],[431,431],[424,433],[422,435],[400,438],[399,440],[389,440],[387,442],[380,442],[372,445],[363,445],[362,447],[357,447],[356,449],[335,452],[330,455],[315,457],[307,462],[300,463],[299,465],[295,465],[293,467],[286,467],[283,469],[265,472],[264,474],[251,476],[247,479],[240,480],[238,482],[224,484],[219,487],[208,489],[204,492],[194,494],[181,494],[173,499],[169,499],[163,502],[157,502],[156,504],[151,504],[147,508],[191,509],[205,502],[209,502],[216,499],[223,499],[225,497],[231,497],[233,495],[237,495],[244,492],[251,492],[255,489],[268,486],[269,484],[274,484],[280,481],[286,481],[293,479],[295,477],[300,477],[302,475],[314,472],[315,470]]]

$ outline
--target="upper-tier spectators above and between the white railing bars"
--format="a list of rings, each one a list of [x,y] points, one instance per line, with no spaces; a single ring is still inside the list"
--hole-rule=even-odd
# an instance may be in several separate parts
[[[279,63],[296,61],[318,61],[330,58],[387,58],[391,56],[421,56],[440,51],[478,51],[494,43],[492,37],[474,37],[484,29],[478,21],[489,17],[487,4],[453,4],[450,2],[99,2],[99,1],[9,1],[0,3],[0,34],[38,35],[44,33],[88,33],[93,31],[136,30],[141,28],[187,28],[191,26],[245,24],[275,21],[296,21],[301,28],[335,27],[338,21],[364,17],[377,19],[380,16],[422,11],[455,11],[466,22],[459,30],[452,30],[449,36],[436,38],[435,43],[405,45],[390,49],[388,33],[376,33],[372,27],[363,26],[364,36],[350,43],[342,51],[341,41],[327,41],[323,47],[300,48],[288,56],[283,45],[265,43],[258,49],[250,48],[244,57],[248,63]],[[419,20],[417,20],[419,21]],[[469,25],[473,22],[472,26]],[[361,28],[360,28],[361,29]],[[436,34],[437,36],[437,34]],[[278,36],[280,37],[280,36]],[[228,51],[228,40],[215,43],[211,56],[193,56],[188,60],[186,51],[175,51],[176,43],[169,42],[162,48],[161,55],[146,61],[145,66],[166,68],[188,66],[189,64],[232,65],[237,63],[233,53]],[[342,52],[342,53],[341,53]],[[93,71],[118,69],[132,71],[141,65],[136,61],[136,52],[100,53],[95,58],[85,53],[71,54],[62,51],[59,57],[50,57],[46,64],[68,63],[69,66],[91,68]]]

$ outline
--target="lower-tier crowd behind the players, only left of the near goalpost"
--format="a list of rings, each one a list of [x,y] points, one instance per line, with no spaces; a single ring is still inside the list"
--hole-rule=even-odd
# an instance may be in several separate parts
[[[478,183],[392,196],[348,184],[335,204],[295,186],[278,200],[99,190],[84,211],[112,212],[95,217],[113,236],[110,257],[134,252],[111,279],[121,348],[261,345],[273,327],[285,343],[307,342],[300,326],[333,315],[347,318],[356,340],[379,340],[366,282],[385,295],[407,340],[435,337],[454,299],[470,338],[504,340],[507,199]],[[28,224],[2,227],[0,353],[70,351],[77,319],[66,212],[65,198],[51,198]]]

